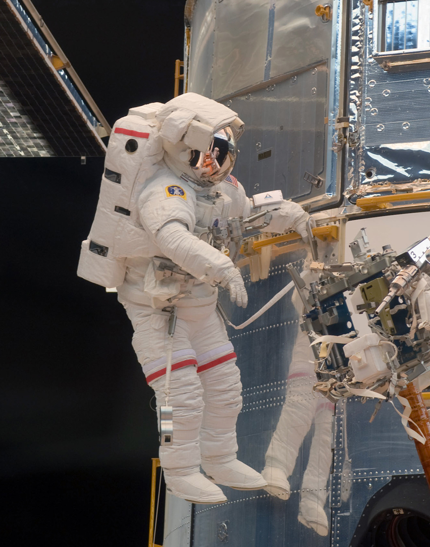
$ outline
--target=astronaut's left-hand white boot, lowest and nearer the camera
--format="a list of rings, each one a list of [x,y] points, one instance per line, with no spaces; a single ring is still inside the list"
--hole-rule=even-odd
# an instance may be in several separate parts
[[[177,469],[164,469],[167,491],[177,498],[191,503],[224,503],[224,492],[200,472],[188,475],[177,474]]]

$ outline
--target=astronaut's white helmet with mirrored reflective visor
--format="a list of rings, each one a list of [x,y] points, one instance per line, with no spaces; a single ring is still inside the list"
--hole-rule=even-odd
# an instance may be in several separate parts
[[[216,101],[194,93],[176,97],[158,115],[164,160],[178,176],[202,187],[223,181],[233,170],[243,122]]]

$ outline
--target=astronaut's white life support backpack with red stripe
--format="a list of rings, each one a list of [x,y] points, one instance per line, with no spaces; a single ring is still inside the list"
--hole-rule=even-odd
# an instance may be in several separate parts
[[[140,255],[146,240],[136,204],[164,154],[155,119],[163,106],[150,103],[131,108],[113,126],[95,218],[82,242],[78,265],[79,277],[102,287],[123,283],[126,258]]]

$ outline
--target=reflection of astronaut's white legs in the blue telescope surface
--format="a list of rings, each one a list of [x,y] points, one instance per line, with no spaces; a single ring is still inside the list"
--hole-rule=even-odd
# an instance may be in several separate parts
[[[320,218],[324,216],[324,213],[317,214]],[[319,252],[321,255],[331,255],[329,243],[321,243]],[[305,265],[311,261],[312,257],[309,254]],[[316,274],[306,269],[301,277],[307,285],[317,278]],[[297,290],[293,293],[292,304],[297,317],[301,317],[303,303]],[[281,499],[289,499],[288,478],[293,474],[300,447],[313,424],[309,460],[301,480],[298,520],[306,527],[313,528],[320,536],[327,536],[329,526],[324,505],[332,464],[334,404],[321,394],[312,392],[312,386],[315,384],[314,360],[309,338],[299,329],[288,368],[286,400],[266,452],[262,475],[268,482],[266,491]]]

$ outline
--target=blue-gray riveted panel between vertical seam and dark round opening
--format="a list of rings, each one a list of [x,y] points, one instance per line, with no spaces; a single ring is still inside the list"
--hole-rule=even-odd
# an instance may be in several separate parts
[[[346,430],[344,447],[334,450],[334,471],[337,467],[344,476],[341,504],[332,513],[332,546],[350,544],[369,499],[393,476],[423,472],[414,442],[391,404],[383,403],[369,423],[374,409],[375,400],[363,404],[361,397],[336,405],[336,415],[344,416]]]

